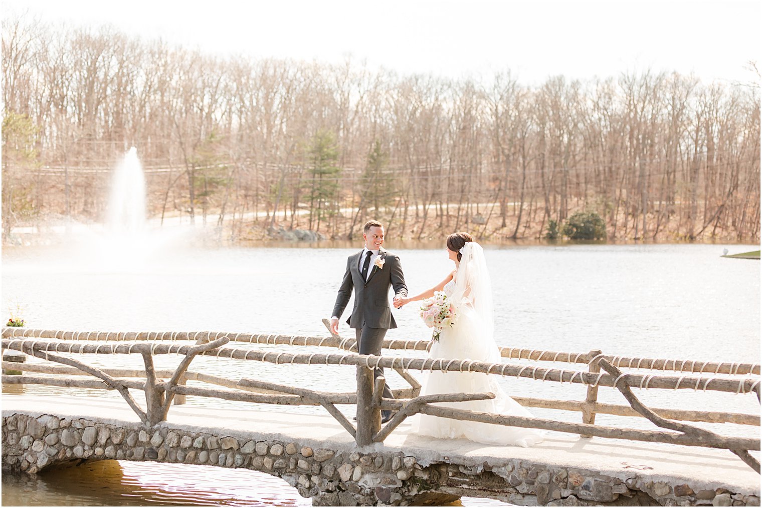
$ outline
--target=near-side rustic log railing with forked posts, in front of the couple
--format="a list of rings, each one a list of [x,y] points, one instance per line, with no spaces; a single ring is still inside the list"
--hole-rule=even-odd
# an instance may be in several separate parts
[[[754,392],[759,398],[760,386],[759,380],[753,378],[743,379],[719,379],[716,376],[709,378],[703,377],[688,377],[680,376],[657,376],[657,375],[639,375],[634,373],[594,373],[594,372],[582,372],[582,371],[566,371],[557,369],[543,369],[541,367],[520,366],[511,364],[489,364],[486,362],[478,362],[472,360],[440,360],[440,359],[420,359],[420,358],[404,358],[404,357],[375,357],[369,355],[358,354],[291,354],[287,352],[277,351],[259,351],[251,349],[241,348],[226,348],[223,347],[229,342],[226,337],[218,338],[211,343],[196,344],[193,346],[181,345],[181,344],[162,344],[158,342],[150,344],[82,344],[72,343],[64,341],[40,341],[40,340],[28,340],[28,339],[4,339],[2,341],[3,348],[13,349],[16,351],[23,351],[27,354],[32,354],[36,357],[40,357],[47,360],[57,361],[63,364],[69,364],[85,373],[97,376],[106,383],[107,388],[117,389],[126,399],[130,407],[136,411],[142,421],[146,424],[156,424],[158,421],[165,420],[168,411],[168,406],[171,403],[171,398],[174,395],[203,395],[203,396],[216,396],[220,398],[227,398],[230,400],[245,400],[247,402],[267,402],[267,403],[282,403],[285,402],[283,395],[265,395],[265,394],[253,394],[243,392],[229,392],[222,390],[210,390],[200,389],[195,387],[181,386],[179,382],[183,379],[185,371],[191,362],[192,357],[196,354],[213,355],[215,357],[229,357],[238,360],[256,360],[265,361],[274,364],[345,364],[354,365],[357,367],[357,395],[354,397],[354,401],[348,395],[350,394],[328,394],[325,392],[314,392],[306,389],[296,389],[295,387],[284,387],[275,385],[274,383],[264,383],[253,380],[242,379],[237,383],[238,388],[241,386],[250,386],[260,389],[271,389],[274,392],[291,392],[296,395],[297,398],[302,398],[302,401],[296,402],[319,402],[326,407],[331,414],[337,418],[338,421],[347,431],[351,432],[354,427],[346,421],[343,414],[335,411],[334,404],[343,403],[357,403],[357,431],[354,434],[357,443],[362,445],[370,444],[372,440],[383,440],[383,437],[388,435],[389,432],[401,423],[402,420],[408,418],[412,414],[421,412],[424,414],[435,414],[444,418],[459,418],[472,421],[485,421],[494,424],[513,425],[518,427],[534,427],[545,430],[557,430],[562,432],[579,433],[587,436],[599,436],[618,439],[630,439],[630,440],[648,440],[658,441],[666,443],[684,444],[688,446],[711,446],[730,449],[735,452],[744,462],[752,465],[752,467],[759,470],[759,463],[748,455],[748,449],[759,449],[759,440],[749,440],[747,438],[735,438],[724,437],[714,433],[703,433],[701,430],[699,435],[689,435],[685,430],[681,430],[682,434],[664,433],[658,431],[637,430],[637,429],[622,429],[618,427],[601,427],[594,424],[571,424],[568,422],[552,421],[543,418],[522,418],[522,417],[505,417],[495,414],[479,414],[478,411],[466,411],[453,408],[442,408],[433,405],[433,402],[443,402],[445,400],[452,401],[453,398],[459,400],[465,400],[474,396],[475,394],[449,394],[443,396],[436,401],[423,400],[419,397],[410,398],[408,400],[380,400],[379,398],[373,398],[373,369],[376,367],[389,367],[400,368],[403,371],[408,369],[414,370],[442,370],[442,371],[468,371],[498,374],[501,376],[517,376],[517,377],[532,377],[533,379],[542,379],[546,381],[556,382],[568,382],[568,383],[581,383],[587,385],[588,388],[597,388],[598,386],[617,386],[620,390],[623,388],[629,389],[630,386],[641,388],[658,388],[658,389],[706,389],[720,392]],[[51,353],[66,352],[66,353],[84,353],[84,354],[130,354],[139,353],[142,354],[146,363],[146,383],[139,383],[125,380],[122,382],[120,379],[114,379],[102,370],[95,369],[94,367],[86,366],[76,360],[72,360],[66,357],[59,357],[56,354]],[[184,354],[185,358],[182,360],[180,367],[174,371],[171,379],[165,383],[158,383],[157,375],[152,366],[152,355],[155,354]],[[598,356],[598,355],[595,355]],[[611,367],[606,360],[598,358],[601,365]],[[396,365],[398,364],[399,365]],[[18,365],[18,364],[16,364]],[[18,368],[18,367],[17,367]],[[7,378],[16,377],[19,382],[21,378],[27,382],[34,382],[30,379],[31,376],[4,376],[4,382],[12,382]],[[379,383],[383,383],[383,379],[378,380]],[[97,383],[97,382],[96,382]],[[710,386],[711,383],[711,386]],[[69,385],[71,386],[71,385]],[[129,393],[126,393],[127,388],[141,388],[146,392],[146,406],[148,411],[145,413],[137,407],[136,403],[132,400]],[[298,390],[299,392],[296,392]],[[376,392],[379,393],[379,392]],[[292,399],[293,400],[293,395]],[[491,395],[491,394],[476,394],[476,395]],[[449,398],[448,398],[449,397]],[[435,397],[436,398],[436,397]],[[628,399],[629,400],[629,399]],[[645,418],[652,417],[652,414],[644,414],[642,407],[635,405],[632,401],[631,407],[634,411],[645,416]],[[595,402],[584,402],[588,405],[589,411],[590,404]],[[331,409],[332,408],[332,409]],[[379,409],[381,408],[397,408],[399,414],[396,420],[392,419],[387,427],[382,431],[380,428]],[[584,411],[585,406],[582,406]],[[455,411],[455,412],[453,412]],[[465,411],[465,412],[463,412]],[[341,418],[339,418],[341,415]],[[449,416],[448,416],[449,415]],[[343,419],[343,421],[342,421]],[[652,419],[652,418],[649,418]],[[652,419],[652,421],[654,421]],[[662,422],[663,423],[663,422]],[[690,426],[689,426],[690,427]],[[682,429],[685,429],[681,427]],[[690,429],[689,429],[690,430]],[[694,433],[695,434],[695,433]],[[745,455],[744,455],[745,454]]]

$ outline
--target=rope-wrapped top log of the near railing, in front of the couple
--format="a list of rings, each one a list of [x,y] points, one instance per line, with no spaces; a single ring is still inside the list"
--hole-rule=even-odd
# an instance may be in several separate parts
[[[103,348],[107,348],[107,354],[130,354],[133,351],[137,353],[150,354],[186,354],[189,348],[194,346],[181,344],[87,344],[77,342],[41,342],[39,340],[29,341],[24,339],[3,339],[2,347],[14,349],[17,351],[65,351],[69,353],[94,354],[97,351],[103,353]],[[613,386],[614,379],[606,373],[589,373],[583,371],[546,369],[544,367],[534,367],[528,365],[514,364],[495,364],[480,361],[470,361],[466,367],[466,360],[454,362],[453,360],[443,360],[440,358],[404,358],[404,357],[386,357],[361,354],[292,354],[284,351],[261,351],[256,349],[243,348],[216,348],[213,351],[203,351],[205,356],[225,357],[235,360],[256,360],[274,364],[308,364],[308,365],[361,365],[368,369],[393,368],[395,362],[399,362],[405,369],[413,370],[441,370],[442,372],[469,372],[469,373],[488,373],[500,376],[515,376],[517,378],[530,378],[551,382],[579,383],[591,387]],[[405,362],[407,360],[407,362]],[[447,362],[447,364],[446,364]],[[531,369],[531,373],[527,373]],[[657,389],[684,389],[693,386],[701,386],[703,389],[718,392],[735,393],[757,393],[760,389],[760,380],[755,378],[742,379],[722,379],[712,376],[687,377],[681,376],[657,376],[655,374],[635,374],[628,373],[626,376],[629,386],[639,386],[642,389],[649,387]],[[684,381],[687,386],[684,386]],[[711,385],[711,386],[710,386]]]

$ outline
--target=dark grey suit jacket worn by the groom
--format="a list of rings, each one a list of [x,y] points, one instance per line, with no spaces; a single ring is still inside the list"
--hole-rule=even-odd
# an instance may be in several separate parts
[[[354,289],[354,309],[347,319],[350,328],[397,328],[397,323],[392,316],[389,307],[389,287],[394,288],[395,294],[408,296],[408,287],[405,285],[405,275],[402,274],[402,265],[399,257],[384,249],[379,249],[379,258],[383,259],[383,268],[372,265],[373,271],[367,281],[363,281],[360,275],[360,256],[363,251],[357,252],[347,259],[347,271],[344,272],[344,280],[338,290],[336,303],[331,316],[341,318],[344,309],[349,303]]]

